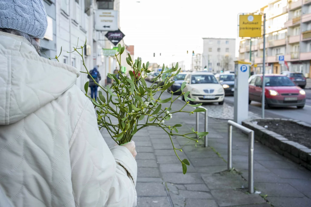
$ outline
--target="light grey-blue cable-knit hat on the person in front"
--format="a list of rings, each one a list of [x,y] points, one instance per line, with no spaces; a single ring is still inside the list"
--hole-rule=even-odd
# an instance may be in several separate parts
[[[0,0],[0,28],[42,39],[47,27],[43,0]]]

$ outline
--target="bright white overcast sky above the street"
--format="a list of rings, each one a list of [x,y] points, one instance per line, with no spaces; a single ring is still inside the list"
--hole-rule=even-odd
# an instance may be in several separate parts
[[[139,1],[139,2],[137,2]],[[120,0],[125,44],[135,46],[143,62],[176,62],[203,51],[203,37],[236,38],[237,16],[268,0]],[[156,53],[156,58],[153,58]],[[161,53],[161,56],[160,56]]]

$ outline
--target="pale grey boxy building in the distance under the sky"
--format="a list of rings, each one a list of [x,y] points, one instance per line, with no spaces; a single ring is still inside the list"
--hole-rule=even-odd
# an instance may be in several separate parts
[[[235,39],[203,38],[202,70],[233,71],[234,59]]]

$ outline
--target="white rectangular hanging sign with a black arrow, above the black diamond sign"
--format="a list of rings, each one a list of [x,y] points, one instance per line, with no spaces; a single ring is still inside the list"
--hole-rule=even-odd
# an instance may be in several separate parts
[[[95,30],[118,30],[118,11],[111,9],[98,9],[95,11]]]

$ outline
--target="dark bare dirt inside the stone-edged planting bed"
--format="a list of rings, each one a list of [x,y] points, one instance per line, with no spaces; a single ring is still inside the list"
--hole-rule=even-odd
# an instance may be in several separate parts
[[[284,136],[286,139],[298,142],[311,149],[311,127],[305,127],[296,122],[283,120],[256,120],[258,125],[265,127],[267,130]],[[266,127],[265,127],[266,128]]]

